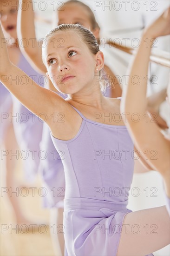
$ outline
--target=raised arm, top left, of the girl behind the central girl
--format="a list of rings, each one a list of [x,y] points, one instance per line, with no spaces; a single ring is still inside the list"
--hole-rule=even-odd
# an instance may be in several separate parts
[[[22,42],[22,47],[20,47],[21,52],[26,55],[27,58],[29,58],[40,73],[46,73],[46,67],[42,62],[42,49],[38,44],[35,34],[32,0],[20,0],[17,20],[17,34],[19,44]]]

